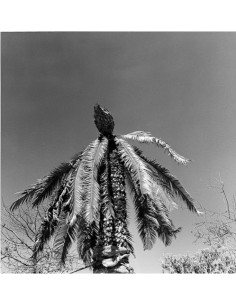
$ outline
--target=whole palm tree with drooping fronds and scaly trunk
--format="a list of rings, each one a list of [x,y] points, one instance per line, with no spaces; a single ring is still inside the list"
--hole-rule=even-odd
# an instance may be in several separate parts
[[[62,263],[77,240],[80,259],[94,273],[132,273],[129,257],[134,248],[127,225],[127,190],[133,198],[144,249],[151,249],[157,237],[169,245],[180,231],[168,215],[176,207],[174,198],[179,197],[190,211],[198,211],[191,196],[166,168],[147,159],[126,140],[161,147],[179,164],[190,160],[148,132],[114,135],[113,117],[98,104],[94,106],[94,122],[99,137],[70,162],[62,163],[23,191],[11,210],[23,203],[37,207],[50,199],[36,236],[33,259],[54,236],[54,250]]]

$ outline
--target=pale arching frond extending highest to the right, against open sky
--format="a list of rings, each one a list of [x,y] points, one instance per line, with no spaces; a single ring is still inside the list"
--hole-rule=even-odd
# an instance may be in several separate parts
[[[121,137],[126,140],[134,140],[140,143],[155,144],[158,147],[163,148],[164,151],[167,151],[168,155],[171,156],[177,163],[186,165],[190,161],[174,151],[170,145],[165,143],[163,140],[153,137],[150,132],[135,131],[126,135],[121,135]]]

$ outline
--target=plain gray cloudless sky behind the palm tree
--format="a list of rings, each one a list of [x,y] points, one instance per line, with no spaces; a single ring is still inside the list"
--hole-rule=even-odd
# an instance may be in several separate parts
[[[203,206],[225,208],[209,184],[220,172],[235,193],[235,33],[3,33],[1,42],[6,203],[97,137],[99,102],[116,134],[149,131],[194,160],[181,167],[141,146]],[[200,247],[190,233],[199,217],[179,208],[171,218],[183,227],[177,239],[145,252],[131,218],[136,272],[160,272],[163,253]]]

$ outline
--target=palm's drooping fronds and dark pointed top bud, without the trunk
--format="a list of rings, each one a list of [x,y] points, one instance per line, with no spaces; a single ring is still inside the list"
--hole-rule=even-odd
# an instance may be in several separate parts
[[[54,236],[54,248],[62,262],[74,240],[78,242],[80,258],[85,263],[91,262],[99,238],[101,204],[104,203],[104,198],[101,198],[101,175],[111,175],[104,168],[108,164],[109,154],[114,150],[117,162],[124,168],[125,184],[133,198],[137,227],[145,249],[150,249],[157,237],[169,244],[179,231],[168,216],[169,210],[176,207],[173,201],[175,197],[186,203],[189,210],[198,212],[181,183],[166,168],[147,159],[126,140],[161,147],[179,164],[187,164],[188,159],[148,132],[113,135],[113,117],[98,104],[94,106],[94,122],[100,136],[70,162],[62,163],[48,176],[23,191],[11,206],[11,210],[14,210],[28,202],[32,207],[37,207],[50,198],[49,208],[36,237],[35,257]],[[107,176],[106,179],[111,177]],[[112,214],[112,200],[106,199],[106,203],[110,204],[108,211]]]

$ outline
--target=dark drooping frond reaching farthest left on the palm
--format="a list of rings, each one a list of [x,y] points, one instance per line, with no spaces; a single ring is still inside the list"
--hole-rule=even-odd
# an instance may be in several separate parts
[[[23,191],[21,193],[22,197],[17,199],[11,205],[11,211],[14,211],[21,204],[26,202],[31,202],[32,206],[35,207],[43,202],[47,197],[51,196],[55,189],[61,185],[62,181],[73,169],[74,165],[80,161],[81,155],[82,153],[76,154],[70,162],[62,163],[48,176],[39,179],[36,184]]]

